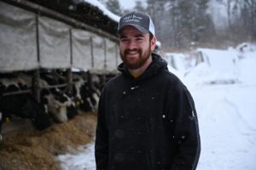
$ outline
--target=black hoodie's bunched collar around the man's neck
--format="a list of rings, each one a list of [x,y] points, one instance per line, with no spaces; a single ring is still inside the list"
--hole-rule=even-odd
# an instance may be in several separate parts
[[[131,76],[130,72],[128,71],[126,65],[121,63],[118,66],[118,70],[123,73],[125,77],[129,77],[131,79],[136,80],[144,80],[148,77],[153,77],[154,75],[158,74],[160,71],[167,69],[167,63],[164,59],[160,57],[159,54],[152,53],[152,62],[148,65],[148,68],[143,72],[140,77],[134,78]]]

